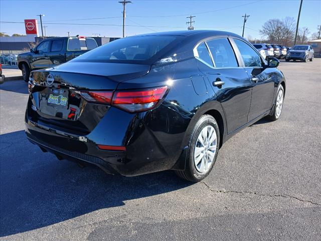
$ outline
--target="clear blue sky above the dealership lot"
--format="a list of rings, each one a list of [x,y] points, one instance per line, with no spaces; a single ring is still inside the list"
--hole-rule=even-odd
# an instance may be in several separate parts
[[[259,30],[269,19],[293,17],[297,19],[299,0],[260,1],[139,1],[126,5],[125,36],[136,34],[187,30],[186,17],[196,16],[194,28],[223,30],[244,37],[260,38]],[[114,0],[78,1],[15,1],[0,0],[0,32],[8,35],[25,34],[24,19],[38,19],[44,14],[43,25],[47,36],[122,36],[122,5]],[[83,20],[86,19],[86,20]],[[317,32],[321,25],[321,0],[303,0],[299,27]]]

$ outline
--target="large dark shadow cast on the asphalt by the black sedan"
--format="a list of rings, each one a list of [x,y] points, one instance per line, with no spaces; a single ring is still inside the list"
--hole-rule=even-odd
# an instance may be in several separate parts
[[[0,236],[191,185],[170,171],[122,177],[94,166],[80,169],[73,162],[42,153],[24,131],[1,135],[0,147]]]

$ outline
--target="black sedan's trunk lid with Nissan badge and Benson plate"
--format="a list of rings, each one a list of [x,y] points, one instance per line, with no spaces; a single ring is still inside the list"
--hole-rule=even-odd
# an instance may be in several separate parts
[[[29,107],[34,121],[89,133],[110,108],[104,100],[118,84],[143,76],[149,69],[138,64],[70,62],[33,71]]]

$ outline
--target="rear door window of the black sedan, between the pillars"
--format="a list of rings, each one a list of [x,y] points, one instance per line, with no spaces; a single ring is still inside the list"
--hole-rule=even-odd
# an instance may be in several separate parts
[[[206,42],[217,68],[238,67],[238,63],[228,39],[213,39]]]

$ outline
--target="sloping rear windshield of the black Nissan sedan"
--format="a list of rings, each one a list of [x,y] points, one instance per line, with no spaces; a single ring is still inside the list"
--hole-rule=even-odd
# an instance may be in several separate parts
[[[176,39],[177,36],[137,36],[118,39],[73,61],[141,63],[166,51],[166,47]]]

